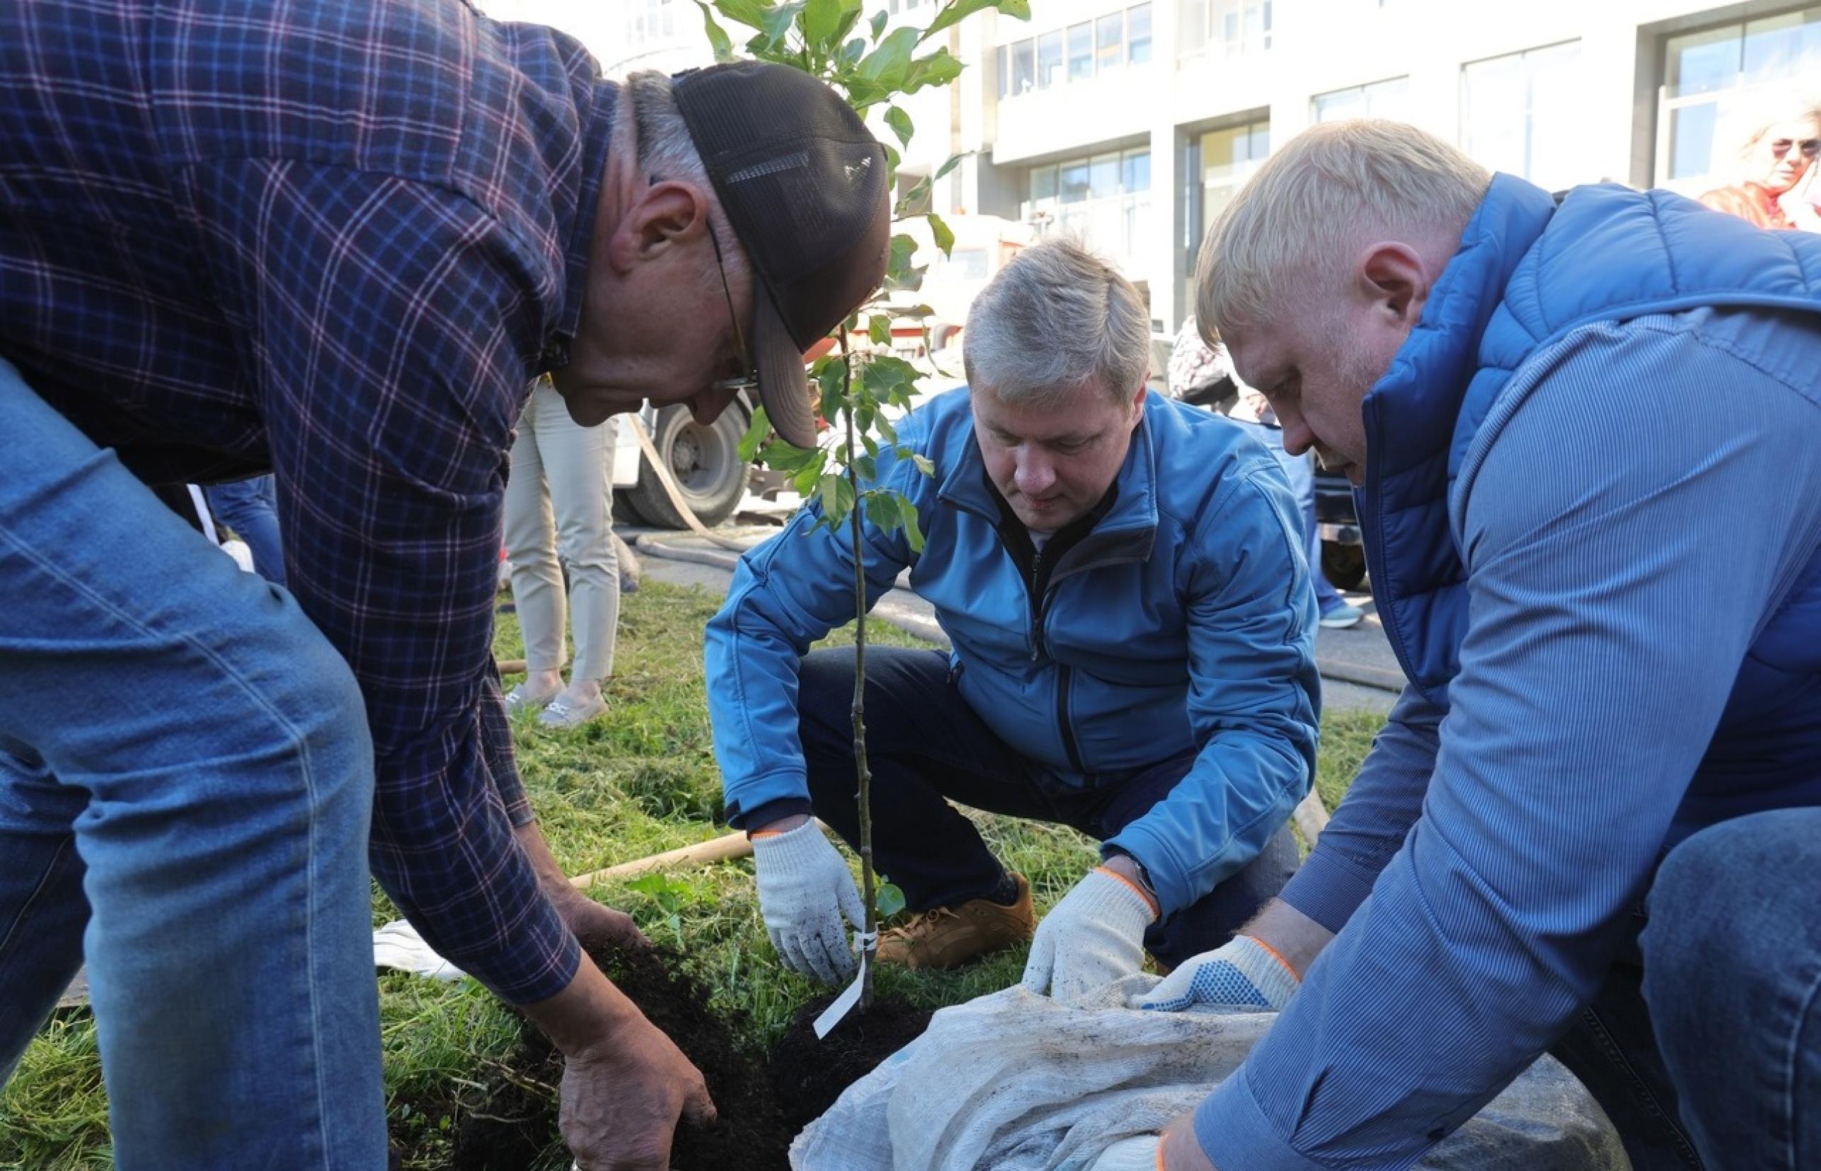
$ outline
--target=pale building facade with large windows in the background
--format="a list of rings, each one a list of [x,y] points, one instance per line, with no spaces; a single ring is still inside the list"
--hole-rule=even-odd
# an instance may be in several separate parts
[[[610,75],[708,58],[692,0],[574,5],[592,29],[563,0],[483,4],[570,27]],[[878,7],[921,24],[932,4]],[[1160,333],[1220,206],[1315,122],[1413,122],[1548,188],[1699,193],[1735,178],[1746,126],[1821,100],[1821,5],[1788,0],[1036,0],[945,42],[967,69],[905,102],[901,184],[961,155],[936,211],[1085,235]]]

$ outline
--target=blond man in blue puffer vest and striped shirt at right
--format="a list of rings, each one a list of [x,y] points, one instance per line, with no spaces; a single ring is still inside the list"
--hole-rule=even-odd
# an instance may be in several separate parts
[[[1196,282],[1357,484],[1409,687],[1153,994],[1282,1007],[1160,1164],[1408,1167],[1548,1049],[1639,1171],[1821,1166],[1821,239],[1346,122]]]

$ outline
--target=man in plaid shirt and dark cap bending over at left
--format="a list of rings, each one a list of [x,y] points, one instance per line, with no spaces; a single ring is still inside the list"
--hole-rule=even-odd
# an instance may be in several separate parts
[[[668,1166],[712,1105],[581,954],[630,922],[544,849],[492,672],[512,426],[548,370],[583,424],[758,388],[814,443],[801,351],[887,235],[790,69],[619,87],[453,0],[0,5],[0,1076],[86,947],[122,1167],[382,1166],[371,816],[568,1056],[581,1166]],[[140,486],[266,470],[290,594]]]

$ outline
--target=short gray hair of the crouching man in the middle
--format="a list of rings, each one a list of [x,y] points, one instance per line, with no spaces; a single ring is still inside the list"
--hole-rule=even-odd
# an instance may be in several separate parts
[[[1111,264],[1076,240],[1047,239],[974,297],[961,368],[1000,402],[1053,404],[1091,382],[1129,401],[1151,372],[1151,315]]]

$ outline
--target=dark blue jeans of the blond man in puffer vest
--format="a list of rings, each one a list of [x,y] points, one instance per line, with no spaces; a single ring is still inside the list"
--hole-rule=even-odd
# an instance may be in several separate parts
[[[1643,934],[1553,1049],[1635,1171],[1821,1167],[1817,909],[1821,809],[1723,821],[1664,858]]]

